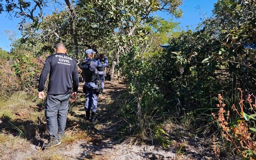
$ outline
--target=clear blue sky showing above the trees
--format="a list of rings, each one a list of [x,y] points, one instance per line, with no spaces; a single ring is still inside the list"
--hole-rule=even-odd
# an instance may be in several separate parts
[[[190,29],[193,29],[200,23],[203,18],[201,15],[202,12],[197,9],[197,6],[201,8],[206,14],[207,17],[212,15],[213,5],[217,0],[184,0],[183,5],[180,7],[183,11],[183,17],[180,19],[174,19],[176,22],[180,22],[180,26],[183,30],[186,30],[188,25]],[[157,16],[160,16],[166,20],[172,18],[170,15],[167,15],[165,12],[156,12]],[[13,17],[12,20],[8,18],[7,13],[3,12],[0,14],[0,47],[4,50],[10,51],[11,41],[8,37],[5,36],[5,30],[11,30],[16,32],[17,37],[20,37],[18,31],[18,18]]]

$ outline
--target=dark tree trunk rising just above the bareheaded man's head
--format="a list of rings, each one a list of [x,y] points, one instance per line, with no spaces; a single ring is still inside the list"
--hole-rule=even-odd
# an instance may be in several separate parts
[[[78,40],[77,40],[77,35],[76,35],[76,30],[75,30],[75,13],[73,6],[71,6],[69,0],[65,0],[66,5],[68,6],[69,10],[69,23],[70,23],[70,32],[73,37],[73,41],[75,44],[75,54],[78,55]]]

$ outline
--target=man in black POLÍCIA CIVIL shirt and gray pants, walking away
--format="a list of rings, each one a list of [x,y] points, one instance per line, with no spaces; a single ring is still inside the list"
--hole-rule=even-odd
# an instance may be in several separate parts
[[[55,54],[47,57],[43,66],[38,85],[38,97],[45,99],[44,85],[49,74],[49,84],[44,108],[50,141],[44,148],[52,148],[59,145],[60,136],[64,136],[66,118],[71,96],[76,97],[79,78],[76,61],[66,55],[66,48],[63,43],[56,44]]]

